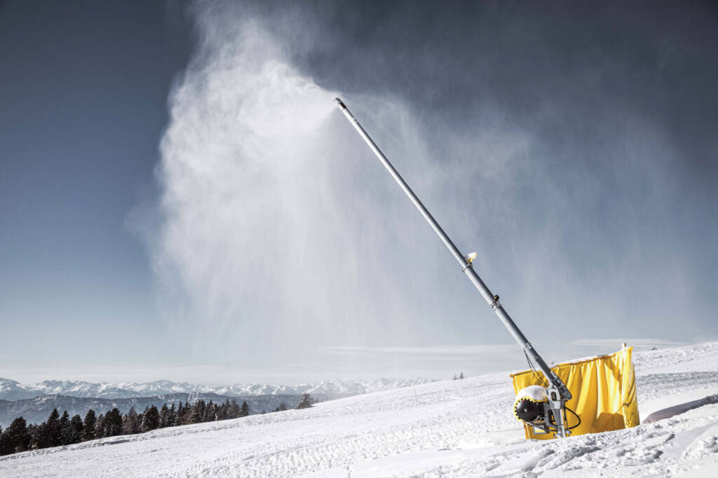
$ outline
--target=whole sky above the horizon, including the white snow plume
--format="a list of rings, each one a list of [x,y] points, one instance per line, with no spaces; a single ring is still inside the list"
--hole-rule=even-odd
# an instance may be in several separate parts
[[[537,345],[716,339],[715,17],[0,4],[0,376],[521,367],[336,94]]]

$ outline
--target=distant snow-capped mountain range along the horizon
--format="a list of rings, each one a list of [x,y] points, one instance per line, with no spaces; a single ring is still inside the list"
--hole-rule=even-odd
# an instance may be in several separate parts
[[[327,380],[320,383],[303,385],[261,385],[256,383],[236,384],[220,387],[176,383],[169,380],[157,380],[148,383],[90,383],[81,381],[44,380],[40,383],[24,385],[15,380],[0,378],[0,400],[23,400],[38,395],[67,395],[78,398],[134,398],[171,393],[216,393],[228,397],[248,397],[259,395],[324,395],[327,398],[360,395],[362,393],[391,390],[429,383],[426,378],[396,379],[379,378],[377,380]]]

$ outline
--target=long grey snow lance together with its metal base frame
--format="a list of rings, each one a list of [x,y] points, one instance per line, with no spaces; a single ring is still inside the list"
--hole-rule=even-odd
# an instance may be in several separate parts
[[[546,376],[548,385],[546,386],[546,406],[543,407],[544,413],[541,414],[542,416],[537,416],[532,421],[527,421],[527,423],[537,429],[537,431],[541,430],[541,433],[555,433],[556,436],[561,438],[568,436],[570,431],[567,427],[566,421],[566,402],[567,400],[571,400],[571,393],[569,392],[567,386],[559,378],[559,376],[556,375],[551,368],[549,368],[549,365],[546,365],[546,362],[544,362],[544,359],[541,358],[541,355],[538,355],[538,352],[536,352],[533,348],[531,342],[528,342],[526,336],[520,329],[518,329],[518,327],[516,327],[516,324],[503,309],[503,306],[499,302],[499,297],[491,293],[486,284],[476,273],[474,266],[472,265],[475,255],[462,255],[452,240],[449,239],[449,236],[444,233],[444,230],[441,228],[437,220],[434,219],[429,210],[427,210],[421,203],[419,197],[416,197],[414,191],[412,191],[409,187],[409,184],[406,184],[404,178],[402,178],[396,169],[394,169],[386,156],[384,156],[381,152],[381,149],[376,146],[373,139],[371,139],[368,133],[364,131],[364,128],[359,124],[359,121],[354,118],[352,113],[350,113],[342,100],[340,100],[340,98],[335,98],[335,100],[342,113],[344,113],[344,116],[346,116],[351,125],[354,126],[355,130],[359,133],[366,144],[368,144],[373,153],[376,154],[376,157],[379,161],[381,161],[381,164],[383,164],[389,174],[391,174],[391,177],[394,178],[399,187],[401,187],[406,195],[409,196],[409,199],[414,203],[416,209],[421,212],[421,215],[424,216],[426,222],[429,222],[429,225],[432,226],[434,232],[437,233],[444,245],[446,245],[447,249],[449,249],[449,252],[452,253],[452,256],[454,256],[460,264],[462,272],[465,273],[471,283],[474,284],[477,291],[479,291],[481,296],[489,304],[491,309],[493,309],[500,321],[508,329],[508,332],[510,332],[513,336],[513,339],[516,340],[516,343],[518,343],[518,346],[521,347],[524,354],[526,354],[529,365],[531,365],[532,368],[536,367],[538,370],[541,370],[541,372],[543,372]]]

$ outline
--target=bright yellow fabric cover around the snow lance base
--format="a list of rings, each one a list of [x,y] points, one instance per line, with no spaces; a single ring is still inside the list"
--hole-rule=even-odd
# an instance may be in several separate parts
[[[611,355],[562,363],[551,369],[571,392],[572,399],[566,406],[581,417],[581,424],[571,431],[572,436],[640,425],[632,355],[633,347],[624,347]],[[538,375],[544,378],[541,372]],[[528,385],[544,385],[532,370],[515,373],[511,378],[514,393]],[[569,426],[574,426],[577,418],[569,411],[566,414]],[[533,427],[526,423],[523,428],[527,439],[555,438],[555,434],[534,434]]]

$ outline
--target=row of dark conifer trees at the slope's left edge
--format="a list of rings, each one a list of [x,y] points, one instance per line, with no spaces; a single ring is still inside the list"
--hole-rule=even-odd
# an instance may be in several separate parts
[[[79,415],[70,418],[67,411],[60,416],[55,408],[47,421],[39,425],[27,425],[21,416],[15,418],[4,431],[0,428],[0,455],[248,415],[249,407],[246,401],[240,406],[237,400],[230,402],[229,399],[220,404],[213,403],[212,400],[209,403],[205,403],[205,400],[197,400],[192,405],[185,400],[184,406],[179,402],[177,407],[174,403],[169,407],[164,403],[159,410],[153,405],[146,407],[142,413],[137,413],[134,407],[125,414],[113,408],[107,413],[95,416],[95,411],[89,410],[85,413],[85,418],[80,418]]]

